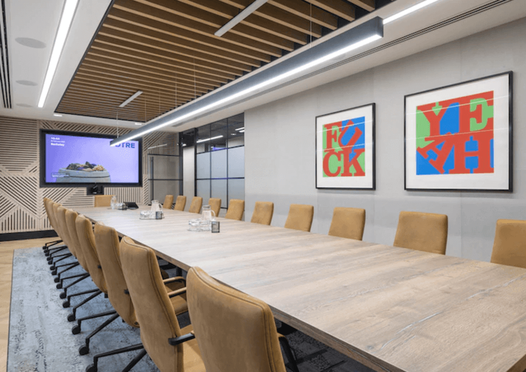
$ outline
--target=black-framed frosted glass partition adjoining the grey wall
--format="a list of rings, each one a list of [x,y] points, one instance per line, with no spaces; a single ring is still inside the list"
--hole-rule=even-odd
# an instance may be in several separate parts
[[[197,128],[196,196],[203,205],[210,197],[221,199],[224,215],[230,199],[245,199],[244,114]]]

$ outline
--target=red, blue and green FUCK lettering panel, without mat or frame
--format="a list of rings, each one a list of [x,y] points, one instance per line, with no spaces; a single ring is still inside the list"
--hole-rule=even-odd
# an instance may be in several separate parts
[[[323,125],[323,177],[365,176],[365,116]]]

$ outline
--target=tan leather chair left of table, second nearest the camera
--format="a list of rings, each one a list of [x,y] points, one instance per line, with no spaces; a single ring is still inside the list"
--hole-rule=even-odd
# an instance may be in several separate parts
[[[120,263],[140,324],[140,339],[157,368],[161,372],[205,372],[197,341],[189,335],[193,328],[179,327],[170,302],[170,296],[186,288],[166,293],[153,250],[128,237],[120,242]]]

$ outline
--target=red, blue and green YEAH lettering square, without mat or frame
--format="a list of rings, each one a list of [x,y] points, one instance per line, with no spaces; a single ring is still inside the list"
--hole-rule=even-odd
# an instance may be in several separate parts
[[[493,173],[493,91],[417,106],[417,175]]]

